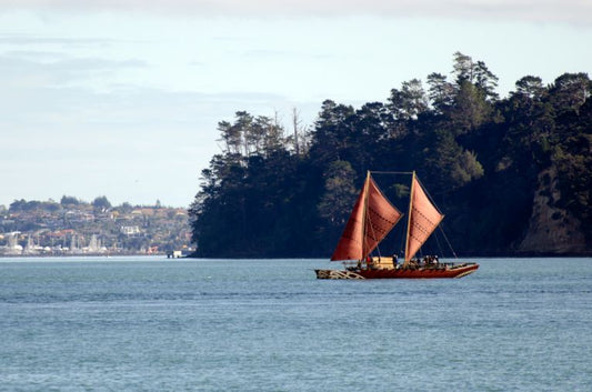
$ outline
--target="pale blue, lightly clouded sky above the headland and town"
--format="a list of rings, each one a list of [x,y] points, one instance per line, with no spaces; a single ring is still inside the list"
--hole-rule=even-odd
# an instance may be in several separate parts
[[[312,125],[483,61],[592,74],[589,0],[0,0],[0,205],[188,207],[237,111]]]

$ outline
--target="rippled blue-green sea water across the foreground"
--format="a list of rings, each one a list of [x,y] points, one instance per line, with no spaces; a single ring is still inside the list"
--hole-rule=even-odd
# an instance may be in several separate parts
[[[0,259],[0,391],[592,391],[592,259]]]

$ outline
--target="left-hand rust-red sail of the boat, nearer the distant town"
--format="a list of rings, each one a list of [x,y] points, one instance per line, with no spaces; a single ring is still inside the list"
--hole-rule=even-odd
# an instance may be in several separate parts
[[[364,259],[387,237],[401,215],[369,175],[331,260]]]

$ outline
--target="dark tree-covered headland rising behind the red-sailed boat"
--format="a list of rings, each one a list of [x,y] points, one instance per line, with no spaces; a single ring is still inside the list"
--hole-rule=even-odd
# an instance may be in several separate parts
[[[190,208],[197,255],[329,257],[367,170],[415,170],[459,255],[590,254],[592,81],[496,84],[458,52],[450,76],[361,108],[327,100],[308,129],[295,111],[287,128],[237,112]],[[404,211],[403,179],[384,181]]]

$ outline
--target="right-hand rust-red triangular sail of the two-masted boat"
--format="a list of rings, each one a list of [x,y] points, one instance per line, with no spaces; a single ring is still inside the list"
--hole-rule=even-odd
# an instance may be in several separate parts
[[[415,255],[421,245],[444,219],[444,215],[432,204],[415,175],[413,175],[411,190],[405,262],[409,262]]]

